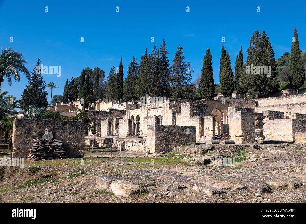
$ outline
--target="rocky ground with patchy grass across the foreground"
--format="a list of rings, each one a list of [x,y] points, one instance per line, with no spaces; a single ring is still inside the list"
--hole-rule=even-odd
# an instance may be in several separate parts
[[[84,164],[81,158],[26,160],[24,169],[0,167],[0,202],[306,202],[305,146],[249,144],[222,152],[218,147],[200,155],[85,157]],[[235,157],[235,166],[210,166],[207,158],[214,155]],[[99,175],[126,181],[128,186],[116,187],[132,195],[101,190],[95,181]],[[136,191],[125,191],[129,184]]]

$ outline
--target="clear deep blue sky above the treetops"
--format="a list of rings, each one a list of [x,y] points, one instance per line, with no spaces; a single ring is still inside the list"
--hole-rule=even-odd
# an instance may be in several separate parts
[[[29,70],[34,68],[37,58],[47,66],[62,66],[61,77],[43,76],[46,83],[53,81],[59,87],[52,95],[62,94],[66,79],[79,76],[83,68],[100,67],[108,74],[112,66],[119,66],[121,57],[125,78],[132,56],[139,61],[146,48],[150,52],[163,39],[170,64],[177,46],[183,46],[185,59],[190,60],[194,69],[193,80],[201,72],[203,57],[210,47],[218,83],[221,45],[229,51],[234,67],[241,46],[246,60],[246,49],[255,30],[267,32],[278,58],[286,51],[291,52],[296,26],[300,49],[305,51],[305,9],[305,1],[0,0],[0,45],[21,52]],[[84,43],[80,37],[84,37]],[[151,43],[151,37],[155,43]],[[222,37],[225,43],[221,42]],[[1,87],[19,98],[27,83],[22,75],[19,83],[13,82],[10,87],[5,79]]]

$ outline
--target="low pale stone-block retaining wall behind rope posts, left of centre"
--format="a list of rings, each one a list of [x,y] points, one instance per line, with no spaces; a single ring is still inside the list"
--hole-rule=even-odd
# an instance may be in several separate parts
[[[94,146],[114,148],[122,150],[132,150],[132,151],[146,151],[146,139],[131,139],[131,138],[107,138],[107,137],[89,137],[86,136],[86,145],[91,145],[93,142]]]

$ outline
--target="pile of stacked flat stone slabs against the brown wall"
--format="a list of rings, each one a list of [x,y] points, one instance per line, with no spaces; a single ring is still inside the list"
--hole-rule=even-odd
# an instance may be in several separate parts
[[[67,158],[67,151],[61,140],[33,139],[29,160],[51,160]]]

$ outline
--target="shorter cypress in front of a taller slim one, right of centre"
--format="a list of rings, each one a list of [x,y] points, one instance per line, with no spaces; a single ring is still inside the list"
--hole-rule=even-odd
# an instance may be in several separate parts
[[[230,63],[229,52],[227,52],[222,65],[220,75],[220,92],[223,96],[232,96],[234,92],[234,76]]]

